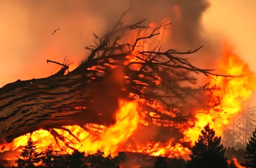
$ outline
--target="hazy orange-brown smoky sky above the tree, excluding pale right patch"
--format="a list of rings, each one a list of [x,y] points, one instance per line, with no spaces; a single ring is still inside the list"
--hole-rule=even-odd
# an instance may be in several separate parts
[[[49,76],[60,67],[46,64],[47,59],[61,62],[67,56],[75,61],[73,68],[78,66],[89,54],[84,47],[94,44],[93,31],[104,35],[130,2],[133,7],[125,24],[145,18],[160,24],[168,19],[172,25],[168,28],[171,35],[165,39],[166,49],[187,51],[204,45],[197,55],[191,56],[193,62],[203,66],[203,60],[215,60],[209,55],[218,51],[218,46],[203,36],[201,18],[210,7],[205,0],[1,0],[0,61],[8,64],[0,70],[8,72],[0,73],[0,79],[6,84]],[[211,54],[199,57],[206,51]]]

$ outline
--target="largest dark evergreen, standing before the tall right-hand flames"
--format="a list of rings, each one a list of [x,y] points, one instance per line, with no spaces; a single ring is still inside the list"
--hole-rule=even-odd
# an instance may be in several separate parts
[[[201,134],[198,142],[192,147],[187,168],[227,168],[227,158],[224,156],[226,148],[220,144],[221,137],[215,136],[215,131],[210,129],[209,123]]]

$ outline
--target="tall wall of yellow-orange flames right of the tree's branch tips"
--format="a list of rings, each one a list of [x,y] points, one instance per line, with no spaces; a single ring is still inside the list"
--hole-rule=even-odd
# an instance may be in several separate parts
[[[184,131],[185,141],[192,141],[192,143],[196,141],[207,123],[216,131],[217,136],[221,136],[223,127],[238,116],[239,112],[243,110],[244,103],[250,99],[252,92],[256,89],[255,74],[238,55],[232,53],[227,44],[224,45],[223,56],[218,65],[217,69],[220,74],[236,76],[244,74],[244,76],[234,79],[216,77],[215,80],[212,80],[212,85],[221,89],[213,93],[219,103],[214,105],[215,100],[215,102],[210,102],[210,105],[213,106],[211,109],[196,112],[195,126]]]

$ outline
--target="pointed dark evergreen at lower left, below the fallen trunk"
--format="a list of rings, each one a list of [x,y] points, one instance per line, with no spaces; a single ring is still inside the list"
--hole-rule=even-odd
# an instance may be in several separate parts
[[[36,145],[32,141],[32,138],[29,137],[28,142],[22,150],[20,158],[16,161],[19,168],[33,168],[34,163],[37,163],[39,154],[36,152]]]

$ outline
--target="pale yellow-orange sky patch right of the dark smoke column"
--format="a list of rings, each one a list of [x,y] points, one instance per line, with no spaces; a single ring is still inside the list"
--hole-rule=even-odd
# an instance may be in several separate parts
[[[256,72],[256,1],[210,0],[212,6],[203,17],[203,24],[210,35],[226,37],[236,52]]]

